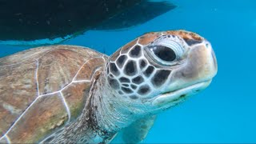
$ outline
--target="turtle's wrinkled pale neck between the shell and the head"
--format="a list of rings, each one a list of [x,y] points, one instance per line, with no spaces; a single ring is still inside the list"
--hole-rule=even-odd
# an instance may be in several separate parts
[[[94,75],[89,95],[86,117],[89,118],[92,129],[103,139],[112,138],[119,130],[145,114],[141,107],[113,90],[106,81],[104,73]]]

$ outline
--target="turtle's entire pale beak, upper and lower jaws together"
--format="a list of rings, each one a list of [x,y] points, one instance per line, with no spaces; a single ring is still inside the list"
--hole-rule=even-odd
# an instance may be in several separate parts
[[[154,106],[170,107],[188,95],[198,94],[210,85],[218,66],[210,42],[203,41],[190,47],[186,62],[172,71],[169,85],[154,99]]]

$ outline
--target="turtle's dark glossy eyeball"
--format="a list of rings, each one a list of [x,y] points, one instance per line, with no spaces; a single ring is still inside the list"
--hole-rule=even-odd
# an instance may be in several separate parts
[[[152,50],[158,58],[166,62],[172,62],[177,57],[174,50],[166,46],[154,46],[150,48],[150,50]]]

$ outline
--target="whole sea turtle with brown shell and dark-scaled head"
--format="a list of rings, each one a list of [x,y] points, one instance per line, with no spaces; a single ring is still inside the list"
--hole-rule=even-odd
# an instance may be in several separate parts
[[[0,142],[124,142],[155,115],[197,94],[217,73],[210,42],[185,30],[152,32],[110,57],[42,46],[0,59]]]

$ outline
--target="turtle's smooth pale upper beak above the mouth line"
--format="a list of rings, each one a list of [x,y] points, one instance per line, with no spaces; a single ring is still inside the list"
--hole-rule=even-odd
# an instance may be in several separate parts
[[[210,42],[204,41],[190,48],[187,60],[181,68],[174,71],[171,83],[182,79],[180,86],[209,81],[217,74],[217,60]],[[186,85],[185,85],[186,86]]]

